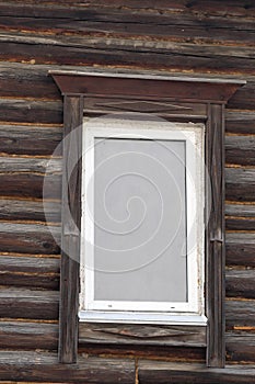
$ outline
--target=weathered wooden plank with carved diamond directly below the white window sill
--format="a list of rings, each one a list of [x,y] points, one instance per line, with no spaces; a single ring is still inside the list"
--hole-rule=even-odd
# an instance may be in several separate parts
[[[206,347],[206,327],[80,323],[79,343]]]

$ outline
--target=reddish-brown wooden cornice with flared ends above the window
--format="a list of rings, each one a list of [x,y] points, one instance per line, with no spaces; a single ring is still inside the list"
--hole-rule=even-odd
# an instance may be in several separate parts
[[[128,75],[93,76],[82,72],[51,72],[62,94],[117,97],[141,100],[182,100],[225,103],[240,81],[217,81],[176,77],[139,77]],[[166,81],[165,81],[166,80]],[[103,87],[102,87],[103,83]],[[228,83],[228,86],[227,86]]]

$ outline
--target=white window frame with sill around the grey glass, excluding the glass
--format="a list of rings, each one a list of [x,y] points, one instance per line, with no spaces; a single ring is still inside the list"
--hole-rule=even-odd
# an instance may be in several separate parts
[[[139,125],[139,128],[137,126]],[[184,140],[186,136],[186,207],[187,233],[192,228],[192,240],[196,247],[187,257],[188,303],[155,302],[107,302],[94,301],[93,273],[93,181],[91,200],[86,201],[86,189],[94,171],[94,138],[143,138]],[[205,125],[193,123],[170,123],[166,121],[140,121],[117,118],[84,118],[82,156],[82,218],[81,218],[81,293],[79,318],[82,321],[140,323],[140,324],[189,324],[206,325],[205,316],[205,266],[204,266],[204,138]],[[197,148],[197,150],[195,150]],[[200,155],[199,155],[200,154]],[[195,180],[195,183],[194,183]],[[190,193],[189,193],[190,192]],[[193,221],[196,207],[194,196],[198,196],[198,221]],[[89,210],[90,206],[90,210]],[[89,212],[90,211],[90,212]],[[88,219],[89,217],[89,219]],[[90,218],[92,217],[92,219]],[[92,245],[92,246],[91,246]],[[187,238],[187,249],[190,246]],[[189,253],[189,251],[188,251]],[[86,255],[86,256],[85,256]],[[85,263],[86,259],[86,263]],[[85,266],[89,264],[90,268]],[[195,268],[194,268],[195,266]],[[144,303],[144,304],[142,304]],[[176,308],[176,312],[170,310]],[[153,309],[153,310],[152,310]]]

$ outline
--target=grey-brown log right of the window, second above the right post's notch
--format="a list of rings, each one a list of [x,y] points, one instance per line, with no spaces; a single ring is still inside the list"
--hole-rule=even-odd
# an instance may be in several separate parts
[[[255,201],[255,169],[225,169],[225,199],[230,201]]]

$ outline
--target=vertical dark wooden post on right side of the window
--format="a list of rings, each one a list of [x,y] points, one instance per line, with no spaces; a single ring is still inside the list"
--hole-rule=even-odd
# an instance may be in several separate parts
[[[223,368],[225,363],[224,319],[224,124],[223,105],[208,106],[206,129],[207,182],[206,261],[207,261],[207,365]]]

